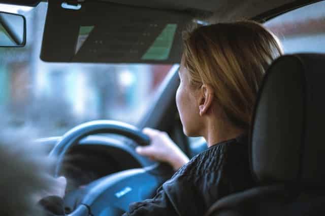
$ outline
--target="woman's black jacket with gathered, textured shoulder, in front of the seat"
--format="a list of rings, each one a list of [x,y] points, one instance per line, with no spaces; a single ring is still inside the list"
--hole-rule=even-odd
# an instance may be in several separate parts
[[[223,196],[253,186],[247,136],[209,147],[161,186],[152,199],[131,203],[126,215],[204,215]]]

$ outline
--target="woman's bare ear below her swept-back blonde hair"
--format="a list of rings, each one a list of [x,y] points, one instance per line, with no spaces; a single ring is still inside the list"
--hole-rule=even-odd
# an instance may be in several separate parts
[[[203,84],[200,88],[199,94],[199,111],[200,116],[203,116],[207,113],[209,108],[212,106],[214,100],[214,91],[211,85]]]

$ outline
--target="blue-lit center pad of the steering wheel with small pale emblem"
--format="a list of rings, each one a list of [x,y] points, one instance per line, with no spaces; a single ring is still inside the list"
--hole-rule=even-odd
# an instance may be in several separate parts
[[[126,211],[129,203],[152,197],[160,186],[155,175],[144,168],[128,169],[111,174],[89,184],[82,204],[90,207],[95,215],[103,211],[103,206]]]

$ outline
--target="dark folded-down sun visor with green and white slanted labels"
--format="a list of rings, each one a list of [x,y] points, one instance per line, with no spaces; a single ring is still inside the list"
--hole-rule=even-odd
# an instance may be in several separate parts
[[[48,4],[41,59],[47,62],[179,63],[189,14],[114,3]]]

